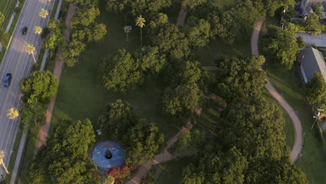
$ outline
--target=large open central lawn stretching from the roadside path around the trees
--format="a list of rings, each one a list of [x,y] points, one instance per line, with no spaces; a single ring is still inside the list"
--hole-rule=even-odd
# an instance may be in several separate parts
[[[125,48],[129,52],[137,49],[140,42],[139,29],[132,26],[130,41],[125,42],[123,26],[128,24],[120,15],[107,13],[102,9],[98,22],[106,24],[108,33],[100,43],[88,46],[86,52],[79,56],[75,67],[63,69],[50,132],[53,132],[56,124],[64,118],[74,120],[90,118],[94,128],[97,129],[99,128],[98,116],[104,114],[110,102],[121,98],[132,104],[139,117],[156,122],[166,135],[166,139],[169,139],[178,131],[180,125],[166,121],[162,116],[162,110],[158,106],[162,94],[162,85],[159,80],[148,80],[138,89],[127,93],[114,93],[104,89],[100,79],[98,62],[105,56],[114,54],[118,49]]]

